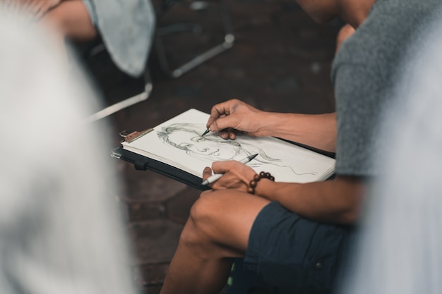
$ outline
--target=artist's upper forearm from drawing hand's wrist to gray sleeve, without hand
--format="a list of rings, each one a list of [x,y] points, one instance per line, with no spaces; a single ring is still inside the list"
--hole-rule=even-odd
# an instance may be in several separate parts
[[[336,148],[336,115],[265,113],[263,135],[280,137],[328,152]]]

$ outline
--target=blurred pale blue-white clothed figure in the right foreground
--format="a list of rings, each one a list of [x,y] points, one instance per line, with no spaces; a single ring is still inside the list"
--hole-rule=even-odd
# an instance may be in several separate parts
[[[442,293],[442,11],[404,60],[383,116],[383,175],[364,207],[342,294]]]

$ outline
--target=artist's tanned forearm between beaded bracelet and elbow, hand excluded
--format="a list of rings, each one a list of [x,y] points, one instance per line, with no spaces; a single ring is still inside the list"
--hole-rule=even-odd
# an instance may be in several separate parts
[[[296,184],[262,179],[256,195],[280,202],[292,212],[315,221],[354,223],[364,197],[364,184],[354,178]]]

